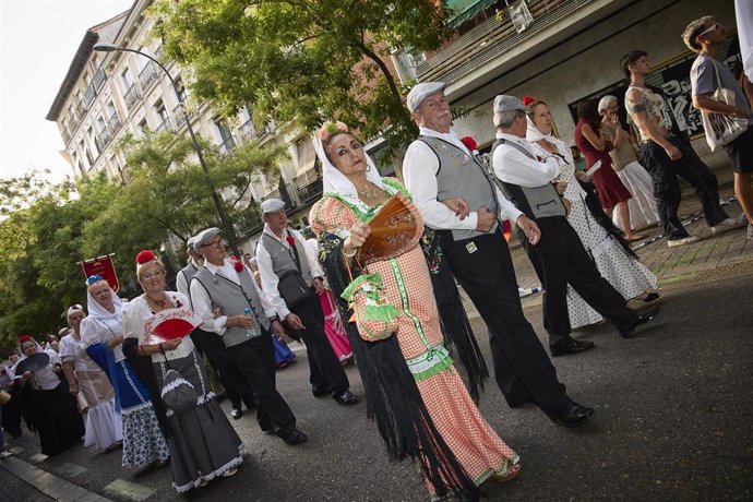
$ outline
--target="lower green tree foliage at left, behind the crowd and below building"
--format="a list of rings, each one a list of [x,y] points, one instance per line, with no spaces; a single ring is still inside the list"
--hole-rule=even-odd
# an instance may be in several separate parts
[[[147,132],[120,147],[128,158],[125,184],[104,174],[59,184],[44,181],[39,172],[0,180],[1,349],[12,347],[20,334],[57,333],[68,307],[85,303],[79,262],[115,253],[121,291],[132,296],[138,292],[133,259],[140,250],[154,250],[175,271],[186,258],[181,243],[218,225],[190,140]],[[276,182],[284,151],[248,143],[220,155],[204,147],[224,207],[242,229],[258,215],[249,206],[252,180],[266,176]]]

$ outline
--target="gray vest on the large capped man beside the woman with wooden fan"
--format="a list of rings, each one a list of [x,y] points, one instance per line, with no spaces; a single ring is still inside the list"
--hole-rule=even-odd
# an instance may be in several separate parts
[[[473,155],[438,138],[421,135],[418,139],[426,143],[439,159],[440,167],[435,175],[438,201],[463,198],[470,211],[485,206],[494,215],[499,214],[494,184],[486,168]],[[487,234],[492,234],[494,230],[497,230],[497,223]],[[453,240],[473,239],[483,234],[475,229],[452,230]]]

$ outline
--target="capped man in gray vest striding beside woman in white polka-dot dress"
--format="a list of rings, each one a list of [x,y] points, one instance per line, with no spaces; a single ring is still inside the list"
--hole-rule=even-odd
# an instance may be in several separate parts
[[[553,181],[560,176],[558,157],[552,155],[539,160],[526,141],[527,108],[523,101],[514,96],[500,95],[493,107],[497,127],[497,142],[492,146],[494,175],[501,180],[504,194],[541,229],[541,238],[536,246],[524,236],[521,240],[547,291],[542,313],[552,356],[582,352],[594,347],[593,342],[570,336],[567,284],[609,319],[620,335],[629,337],[636,326],[652,319],[658,308],[643,312],[629,309],[625,299],[599,274],[567,223],[567,200],[554,188]]]

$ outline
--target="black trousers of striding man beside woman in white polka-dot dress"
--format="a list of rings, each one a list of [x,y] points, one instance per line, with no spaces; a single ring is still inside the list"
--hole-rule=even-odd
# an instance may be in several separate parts
[[[541,230],[538,244],[530,244],[522,232],[518,237],[546,291],[542,312],[549,345],[555,346],[570,336],[567,284],[613,323],[630,321],[635,313],[626,307],[622,295],[601,277],[567,219],[554,216],[536,223]]]

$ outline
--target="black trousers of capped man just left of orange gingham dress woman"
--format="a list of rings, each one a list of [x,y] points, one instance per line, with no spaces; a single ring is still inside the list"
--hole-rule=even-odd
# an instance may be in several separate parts
[[[347,391],[350,382],[324,333],[324,311],[313,289],[309,298],[291,309],[291,312],[298,315],[306,326],[306,330],[299,331],[298,334],[306,344],[309,357],[311,387],[330,389],[333,394]]]

